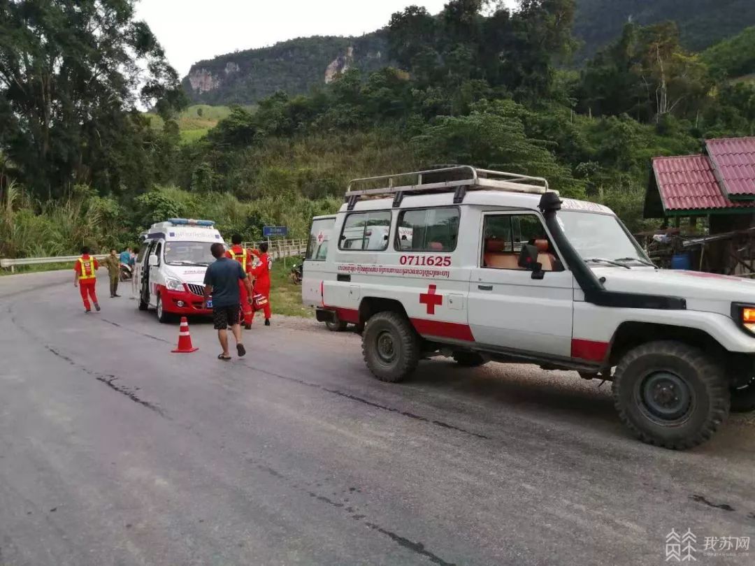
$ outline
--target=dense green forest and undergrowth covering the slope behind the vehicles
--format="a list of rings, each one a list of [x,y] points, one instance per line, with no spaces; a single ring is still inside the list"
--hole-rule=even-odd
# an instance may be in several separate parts
[[[233,106],[180,143],[187,101],[133,2],[76,5],[0,4],[0,256],[122,245],[184,215],[301,237],[350,177],[451,162],[548,177],[636,229],[652,156],[755,134],[752,30],[696,54],[675,23],[627,23],[575,67],[575,0],[451,0],[393,14],[393,66]]]

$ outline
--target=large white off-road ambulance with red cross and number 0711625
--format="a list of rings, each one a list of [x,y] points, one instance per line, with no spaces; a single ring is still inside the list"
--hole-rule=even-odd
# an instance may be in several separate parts
[[[677,449],[755,408],[755,282],[658,269],[609,208],[541,178],[354,180],[313,220],[302,294],[319,321],[357,325],[380,380],[434,355],[575,370],[613,382],[640,439]]]

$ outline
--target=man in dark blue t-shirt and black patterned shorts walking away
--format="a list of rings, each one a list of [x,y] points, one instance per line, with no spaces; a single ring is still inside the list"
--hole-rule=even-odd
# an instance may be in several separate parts
[[[217,330],[217,340],[223,353],[217,356],[219,360],[230,360],[228,352],[228,327],[233,331],[236,339],[236,352],[239,358],[246,354],[246,349],[241,341],[241,325],[239,325],[239,280],[244,281],[249,301],[254,293],[251,291],[251,281],[246,276],[241,263],[226,257],[226,248],[222,244],[213,244],[210,248],[215,262],[205,272],[205,301],[202,307],[207,307],[207,302],[212,296],[212,320]]]

